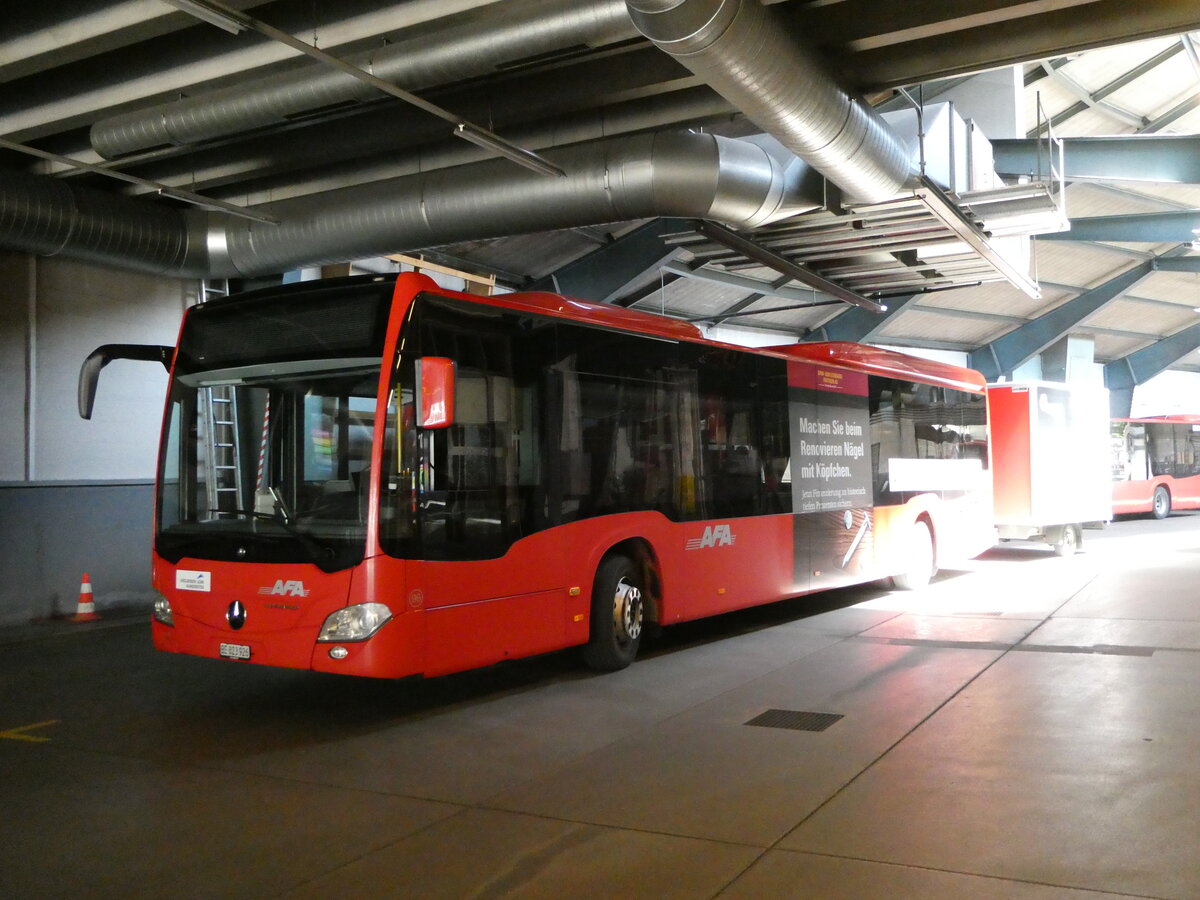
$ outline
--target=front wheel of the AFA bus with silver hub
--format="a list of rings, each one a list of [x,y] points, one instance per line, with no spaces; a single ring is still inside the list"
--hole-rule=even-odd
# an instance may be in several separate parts
[[[629,557],[600,560],[592,586],[592,619],[583,661],[598,672],[625,668],[642,642],[642,571]]]

